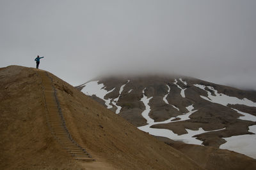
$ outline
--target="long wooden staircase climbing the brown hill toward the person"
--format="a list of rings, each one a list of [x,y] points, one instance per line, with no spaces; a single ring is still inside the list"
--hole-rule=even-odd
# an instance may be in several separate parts
[[[76,160],[93,161],[90,153],[79,146],[68,132],[65,118],[63,117],[61,106],[58,101],[57,92],[52,85],[52,78],[46,71],[38,70],[38,76],[42,78],[42,87],[44,91],[46,120],[47,125],[51,129],[52,135],[57,139],[67,152]]]

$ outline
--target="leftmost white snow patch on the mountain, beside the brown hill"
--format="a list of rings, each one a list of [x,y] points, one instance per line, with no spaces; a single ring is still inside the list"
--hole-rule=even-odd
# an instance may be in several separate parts
[[[103,85],[103,83],[98,83],[99,81],[89,81],[88,83],[85,83],[85,87],[81,91],[88,96],[93,96],[94,94],[95,96],[105,101],[105,104],[108,107],[108,109],[112,108],[113,106],[110,105],[111,99],[104,99],[104,96],[115,90],[115,88],[107,91],[105,90],[106,87]]]

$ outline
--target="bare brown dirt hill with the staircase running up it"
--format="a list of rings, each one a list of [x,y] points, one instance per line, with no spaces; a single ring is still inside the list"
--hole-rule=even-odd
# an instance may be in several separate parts
[[[49,73],[68,130],[95,162],[74,160],[53,138],[36,70],[0,69],[0,169],[201,169],[183,153]]]

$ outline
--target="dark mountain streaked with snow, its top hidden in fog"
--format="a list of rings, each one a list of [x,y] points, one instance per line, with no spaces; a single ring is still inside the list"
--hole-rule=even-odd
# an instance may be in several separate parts
[[[180,76],[112,76],[77,88],[141,131],[256,158],[256,92]]]

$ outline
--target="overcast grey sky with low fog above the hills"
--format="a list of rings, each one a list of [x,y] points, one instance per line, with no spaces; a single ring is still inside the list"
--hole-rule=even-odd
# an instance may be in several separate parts
[[[0,67],[71,85],[106,73],[179,73],[256,90],[256,1],[0,0]]]

